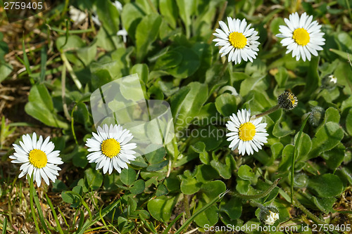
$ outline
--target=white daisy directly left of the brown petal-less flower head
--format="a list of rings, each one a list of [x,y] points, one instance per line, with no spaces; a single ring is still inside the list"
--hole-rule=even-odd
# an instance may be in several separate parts
[[[239,154],[248,155],[253,154],[253,150],[258,152],[261,150],[263,143],[267,143],[267,136],[265,126],[266,123],[260,123],[263,117],[257,119],[250,119],[251,110],[242,109],[237,112],[237,115],[232,114],[226,127],[230,133],[226,136],[227,141],[231,141],[229,148],[234,150],[239,148]]]

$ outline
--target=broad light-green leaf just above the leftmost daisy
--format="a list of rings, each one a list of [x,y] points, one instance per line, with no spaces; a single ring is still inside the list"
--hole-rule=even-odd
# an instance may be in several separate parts
[[[44,84],[32,86],[28,103],[25,105],[25,112],[46,125],[63,129],[68,128],[68,124],[63,122],[61,117],[56,114],[49,91]]]

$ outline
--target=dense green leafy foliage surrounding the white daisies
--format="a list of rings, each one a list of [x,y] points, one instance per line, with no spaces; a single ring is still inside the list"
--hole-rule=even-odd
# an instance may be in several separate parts
[[[297,200],[326,223],[348,223],[351,207],[348,210],[341,200],[351,196],[352,183],[352,67],[348,63],[348,53],[352,52],[351,4],[126,0],[120,12],[111,1],[77,0],[56,4],[50,11],[36,15],[38,29],[49,36],[44,39],[31,33],[24,35],[23,50],[32,41],[45,43],[16,58],[27,69],[15,79],[31,86],[25,112],[42,123],[36,127],[50,126],[58,133],[53,141],[56,150],[61,150],[65,173],[43,191],[61,193],[62,200],[54,204],[58,216],[66,218],[61,231],[168,233],[227,189],[231,192],[196,216],[189,230],[203,230],[206,225],[260,224],[258,209],[241,195],[260,195],[277,178],[282,179],[276,188],[253,199],[279,209],[275,226],[301,227],[301,223],[308,223],[306,214],[292,212],[296,208],[291,207],[291,186]],[[71,5],[87,15],[83,22],[70,19]],[[279,25],[284,25],[283,18],[295,11],[313,15],[325,32],[324,50],[311,61],[296,61],[291,53],[286,55],[275,37]],[[92,15],[99,16],[101,27],[94,24]],[[233,65],[220,58],[212,34],[218,20],[227,16],[246,18],[259,32],[260,51],[253,63],[242,60]],[[122,27],[128,33],[126,43],[117,35]],[[3,37],[0,33],[0,41]],[[8,52],[7,44],[1,41],[2,84],[11,79],[11,71],[15,72],[3,59]],[[170,103],[177,138],[165,148],[131,162],[121,174],[114,171],[104,175],[86,159],[84,142],[96,131],[89,97],[103,84],[134,73],[139,74],[146,99]],[[322,78],[329,74],[337,77],[332,89],[322,87]],[[229,86],[239,95],[231,93]],[[298,106],[290,112],[277,110],[264,117],[269,136],[263,150],[244,157],[237,150],[231,151],[224,135],[228,117],[242,108],[250,109],[252,115],[268,110],[287,90],[297,96]],[[298,131],[308,114],[310,120],[296,145]],[[209,119],[211,123],[206,121]],[[5,122],[1,126],[3,138],[8,127],[4,129]],[[195,136],[202,130],[206,136]],[[1,163],[13,153],[11,148],[6,150]],[[15,175],[1,176],[1,200],[8,200],[6,193],[14,187],[28,186],[14,179]],[[48,203],[49,197],[42,197],[42,202]],[[12,203],[20,199],[21,195],[16,195]],[[58,211],[68,209],[67,204],[74,211],[70,216]],[[11,212],[2,212],[10,223]],[[29,212],[25,214],[25,222],[30,222],[33,217]],[[0,222],[4,223],[4,219]],[[44,223],[49,230],[58,230],[48,221]],[[8,230],[14,231],[9,224]]]

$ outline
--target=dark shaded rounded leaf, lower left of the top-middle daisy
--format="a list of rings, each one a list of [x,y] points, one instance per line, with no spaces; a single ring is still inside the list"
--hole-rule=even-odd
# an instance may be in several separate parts
[[[193,51],[191,48],[185,46],[178,46],[172,50],[182,56],[180,63],[174,67],[170,67],[166,72],[170,73],[176,78],[187,78],[190,77],[196,70],[198,70],[201,62],[199,60],[198,54]],[[171,53],[171,51],[170,51]],[[175,58],[175,64],[178,58]]]

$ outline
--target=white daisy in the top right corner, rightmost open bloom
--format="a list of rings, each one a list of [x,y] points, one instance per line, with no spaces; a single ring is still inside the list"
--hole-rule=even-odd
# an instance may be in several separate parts
[[[282,46],[287,46],[286,53],[292,51],[292,58],[296,56],[296,60],[302,58],[303,61],[310,61],[311,54],[318,56],[317,51],[322,51],[325,45],[324,32],[320,31],[322,25],[318,25],[317,20],[313,21],[312,15],[303,13],[301,18],[298,13],[289,15],[289,19],[285,18],[287,26],[280,25],[280,34],[276,37],[282,37]]]

